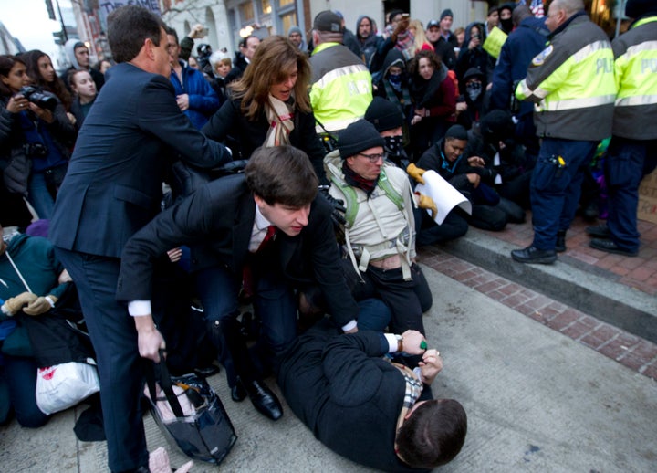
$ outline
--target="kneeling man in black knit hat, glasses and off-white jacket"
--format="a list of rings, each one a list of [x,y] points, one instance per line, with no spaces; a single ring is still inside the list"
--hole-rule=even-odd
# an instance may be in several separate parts
[[[391,331],[424,332],[422,312],[433,299],[415,264],[411,182],[385,163],[384,143],[369,121],[356,121],[339,133],[338,150],[324,160],[332,183],[328,192],[346,208],[345,275],[356,300],[378,297],[390,307]]]

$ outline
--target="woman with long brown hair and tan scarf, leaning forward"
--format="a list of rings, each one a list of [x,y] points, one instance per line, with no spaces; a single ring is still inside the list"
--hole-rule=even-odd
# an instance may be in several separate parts
[[[308,154],[319,180],[326,182],[309,84],[307,56],[287,37],[267,37],[244,76],[228,86],[229,100],[201,131],[229,146],[233,159],[248,159],[258,146],[291,144]]]

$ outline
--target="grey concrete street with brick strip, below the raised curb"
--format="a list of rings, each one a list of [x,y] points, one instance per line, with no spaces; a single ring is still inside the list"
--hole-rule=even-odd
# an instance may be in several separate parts
[[[459,399],[469,418],[464,450],[443,471],[654,471],[654,344],[442,249],[423,251],[422,263],[434,295],[427,337],[444,359],[434,394]],[[602,332],[613,335],[600,345]],[[211,383],[239,435],[221,469],[367,471],[319,444],[289,410],[267,421],[247,401],[230,401],[223,373]],[[0,470],[106,471],[104,444],[73,435],[83,409],[36,430],[0,427]],[[146,422],[151,449],[164,445]]]

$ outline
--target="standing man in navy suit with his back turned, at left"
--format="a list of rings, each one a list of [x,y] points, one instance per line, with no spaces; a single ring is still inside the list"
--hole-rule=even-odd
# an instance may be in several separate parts
[[[163,345],[150,308],[132,310],[139,317],[130,317],[115,300],[121,251],[160,210],[168,152],[202,167],[230,160],[176,104],[164,27],[158,16],[135,5],[108,16],[119,64],[110,69],[79,133],[49,232],[57,258],[76,281],[97,354],[112,471],[148,468],[140,355],[158,360]]]

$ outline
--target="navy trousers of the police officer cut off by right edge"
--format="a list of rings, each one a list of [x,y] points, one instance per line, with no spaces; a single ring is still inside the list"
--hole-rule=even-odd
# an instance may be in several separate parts
[[[638,141],[614,136],[605,162],[605,179],[609,193],[607,227],[620,248],[639,249],[637,208],[639,184],[643,176],[657,166],[657,140]]]

